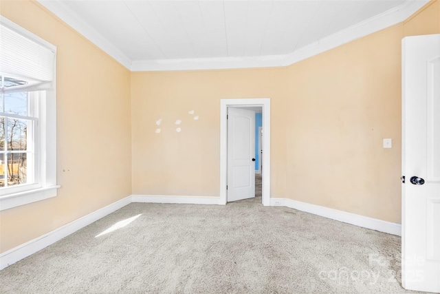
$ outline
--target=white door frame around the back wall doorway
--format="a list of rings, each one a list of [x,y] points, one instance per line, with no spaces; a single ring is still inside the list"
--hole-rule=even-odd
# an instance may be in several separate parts
[[[226,185],[228,183],[228,107],[262,107],[263,167],[262,196],[263,205],[270,206],[270,98],[220,99],[220,199],[219,204],[227,202]]]

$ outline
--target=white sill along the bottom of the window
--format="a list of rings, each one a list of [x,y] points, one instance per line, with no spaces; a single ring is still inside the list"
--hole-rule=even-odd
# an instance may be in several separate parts
[[[32,189],[0,197],[0,211],[56,196],[59,185]]]

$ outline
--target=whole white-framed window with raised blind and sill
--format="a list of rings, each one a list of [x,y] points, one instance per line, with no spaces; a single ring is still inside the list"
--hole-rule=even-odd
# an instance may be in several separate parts
[[[0,19],[0,210],[56,196],[56,48]]]

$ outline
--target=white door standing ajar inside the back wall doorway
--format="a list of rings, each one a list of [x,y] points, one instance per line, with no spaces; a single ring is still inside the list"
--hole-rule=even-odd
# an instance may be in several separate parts
[[[228,202],[255,197],[255,112],[228,108]]]

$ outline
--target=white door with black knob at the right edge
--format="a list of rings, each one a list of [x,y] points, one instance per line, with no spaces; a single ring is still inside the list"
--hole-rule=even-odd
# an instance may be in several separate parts
[[[402,41],[402,285],[440,292],[440,34]]]

